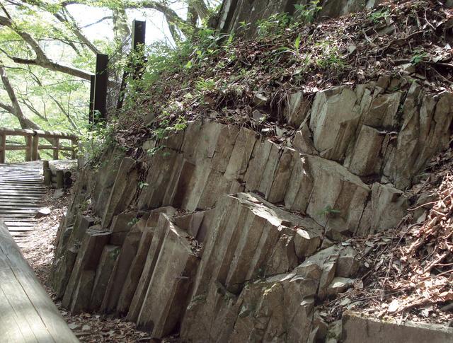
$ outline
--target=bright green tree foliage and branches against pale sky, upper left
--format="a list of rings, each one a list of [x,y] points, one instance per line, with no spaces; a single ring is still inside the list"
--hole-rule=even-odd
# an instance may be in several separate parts
[[[114,54],[146,20],[147,44],[171,49],[218,1],[0,1],[0,126],[84,134],[96,54]],[[122,53],[122,51],[120,51]]]

